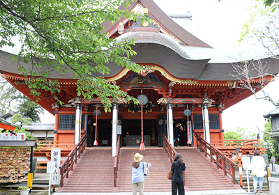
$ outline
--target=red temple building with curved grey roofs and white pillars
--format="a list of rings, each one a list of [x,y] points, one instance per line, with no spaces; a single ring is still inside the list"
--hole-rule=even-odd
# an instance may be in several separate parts
[[[93,72],[91,76],[103,76],[110,84],[143,102],[143,112],[141,104],[119,98],[112,100],[112,112],[106,113],[98,98],[77,97],[77,80],[72,73],[61,75],[54,71],[51,79],[61,86],[56,96],[64,104],[61,106],[45,91],[40,91],[38,100],[40,106],[55,116],[54,141],[72,141],[74,146],[86,134],[87,147],[93,147],[96,139],[98,146],[112,146],[114,156],[117,134],[121,134],[122,147],[140,146],[142,118],[145,146],[163,146],[163,134],[176,146],[177,123],[181,124],[180,146],[196,146],[193,132],[209,143],[223,140],[223,110],[252,95],[246,89],[237,88],[238,81],[230,76],[234,72],[232,63],[240,62],[229,61],[173,20],[175,17],[190,20],[190,15],[169,17],[151,0],[131,2],[129,9],[145,13],[151,21],[141,23],[140,19],[131,21],[123,17],[114,24],[105,22],[103,27],[109,38],[135,39],[133,50],[137,55],[130,60],[140,64],[144,72],[139,75],[108,63],[110,74]],[[1,77],[34,100],[24,77],[17,71],[17,63],[24,67],[30,64],[13,61],[10,55],[0,51]],[[271,76],[266,77],[269,82],[279,72],[278,60],[262,61],[270,65]],[[259,82],[259,79],[253,81],[256,91]]]

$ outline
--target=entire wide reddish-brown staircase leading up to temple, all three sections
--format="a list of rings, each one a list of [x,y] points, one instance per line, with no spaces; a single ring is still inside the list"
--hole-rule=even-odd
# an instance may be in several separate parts
[[[181,153],[187,166],[186,191],[241,189],[239,185],[233,185],[231,180],[196,148],[175,149]],[[130,193],[133,191],[132,163],[135,153],[142,154],[143,161],[152,164],[144,182],[144,192],[171,192],[171,180],[166,178],[171,164],[165,150],[158,147],[146,148],[144,151],[139,148],[121,148],[116,188],[113,187],[114,157],[111,156],[111,148],[86,149],[66,184],[59,187],[57,192]]]

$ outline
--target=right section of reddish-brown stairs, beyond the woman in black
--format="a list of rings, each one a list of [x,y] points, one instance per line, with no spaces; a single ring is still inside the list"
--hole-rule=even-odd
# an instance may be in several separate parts
[[[186,191],[241,189],[224,176],[223,171],[204,157],[197,148],[175,148],[186,164]]]

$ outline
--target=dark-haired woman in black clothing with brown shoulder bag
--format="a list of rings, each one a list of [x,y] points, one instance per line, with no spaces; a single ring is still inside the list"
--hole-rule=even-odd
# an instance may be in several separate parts
[[[172,195],[177,194],[179,189],[179,195],[184,195],[184,178],[182,171],[185,171],[185,163],[181,157],[181,153],[176,153],[174,156],[174,162],[172,162]]]

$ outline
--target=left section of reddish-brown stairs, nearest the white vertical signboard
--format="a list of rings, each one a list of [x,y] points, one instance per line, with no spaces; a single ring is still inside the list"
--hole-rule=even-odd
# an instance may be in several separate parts
[[[86,149],[66,185],[58,192],[112,192],[114,157],[111,148]]]

